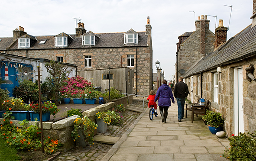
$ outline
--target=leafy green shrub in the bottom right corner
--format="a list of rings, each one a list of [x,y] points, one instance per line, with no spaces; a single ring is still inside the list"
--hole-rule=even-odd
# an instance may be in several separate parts
[[[255,161],[256,159],[256,133],[232,134],[228,138],[230,148],[225,150],[223,156],[231,161]]]

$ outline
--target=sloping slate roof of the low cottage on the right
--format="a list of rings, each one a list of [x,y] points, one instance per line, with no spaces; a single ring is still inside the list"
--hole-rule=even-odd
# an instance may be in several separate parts
[[[251,25],[243,29],[237,35],[201,59],[194,67],[191,67],[184,77],[208,71],[224,64],[241,61],[243,58],[256,55],[256,26]]]

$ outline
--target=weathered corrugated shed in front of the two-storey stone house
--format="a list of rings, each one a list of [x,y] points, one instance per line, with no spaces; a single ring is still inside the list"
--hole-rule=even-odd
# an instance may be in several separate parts
[[[118,90],[123,90],[123,93],[133,94],[134,86],[134,71],[127,67],[110,68],[110,69],[97,69],[78,71],[77,74],[84,77],[88,81],[91,81],[94,86],[102,87],[102,90],[106,90],[110,87]],[[104,75],[110,76],[113,74],[113,79],[104,79]]]

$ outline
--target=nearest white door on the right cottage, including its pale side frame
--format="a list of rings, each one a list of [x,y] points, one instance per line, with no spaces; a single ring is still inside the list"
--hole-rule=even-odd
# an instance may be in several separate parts
[[[243,69],[235,68],[234,73],[234,91],[235,91],[235,108],[234,108],[234,134],[244,132],[243,126]]]

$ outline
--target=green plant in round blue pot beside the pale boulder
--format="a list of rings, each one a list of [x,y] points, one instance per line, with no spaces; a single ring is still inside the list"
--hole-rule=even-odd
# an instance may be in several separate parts
[[[202,119],[207,122],[209,130],[212,134],[222,131],[224,119],[222,118],[221,113],[207,110],[206,114],[202,116]]]

